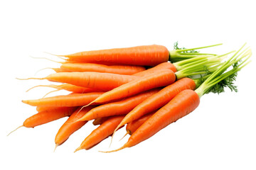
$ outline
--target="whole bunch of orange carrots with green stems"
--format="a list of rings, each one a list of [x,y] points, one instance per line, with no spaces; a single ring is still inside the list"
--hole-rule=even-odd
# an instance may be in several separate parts
[[[235,77],[250,62],[250,48],[242,45],[221,55],[196,51],[213,46],[181,49],[176,43],[171,51],[162,45],[144,45],[55,55],[64,60],[53,69],[55,73],[28,79],[60,84],[31,89],[48,86],[70,94],[22,101],[36,106],[38,113],[18,128],[34,128],[68,117],[55,136],[58,147],[92,120],[97,128],[75,152],[114,137],[124,126],[129,140],[109,152],[133,147],[194,111],[204,94],[221,93],[225,87],[237,91]]]

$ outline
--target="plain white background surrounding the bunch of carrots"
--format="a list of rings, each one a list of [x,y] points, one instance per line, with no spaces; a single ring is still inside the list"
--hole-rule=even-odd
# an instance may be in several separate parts
[[[66,118],[6,135],[36,113],[22,99],[41,98],[48,88],[38,69],[59,64],[34,57],[52,57],[83,50],[136,45],[181,47],[223,42],[207,52],[229,52],[244,42],[256,49],[253,1],[1,1],[0,169],[256,169],[255,55],[238,74],[238,93],[207,94],[193,113],[139,145],[112,154],[124,129],[96,147],[73,154],[95,128],[87,123],[55,147],[54,138]],[[58,60],[52,57],[53,60]],[[63,92],[55,93],[63,94]]]

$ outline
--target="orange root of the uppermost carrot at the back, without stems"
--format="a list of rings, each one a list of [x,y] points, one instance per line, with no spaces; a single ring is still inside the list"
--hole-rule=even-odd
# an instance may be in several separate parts
[[[68,57],[68,61],[76,62],[110,62],[155,66],[169,60],[169,50],[162,45],[142,45],[137,47],[77,52],[72,55],[62,56]]]

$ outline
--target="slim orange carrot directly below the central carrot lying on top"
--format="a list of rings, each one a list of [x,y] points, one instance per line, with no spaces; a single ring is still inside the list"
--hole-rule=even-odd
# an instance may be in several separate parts
[[[134,107],[142,103],[146,98],[156,94],[160,89],[153,89],[146,91],[144,93],[131,96],[129,98],[124,98],[121,101],[115,101],[112,103],[107,103],[92,110],[88,111],[82,116],[78,121],[93,120],[95,118],[104,118],[110,115],[124,115],[132,111]]]

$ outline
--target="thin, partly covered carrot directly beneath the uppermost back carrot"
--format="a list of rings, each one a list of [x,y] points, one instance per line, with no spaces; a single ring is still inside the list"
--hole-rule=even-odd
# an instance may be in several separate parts
[[[128,65],[104,65],[94,63],[70,63],[62,64],[61,69],[68,70],[68,72],[106,72],[114,74],[132,75],[145,70],[142,66],[128,66]]]

